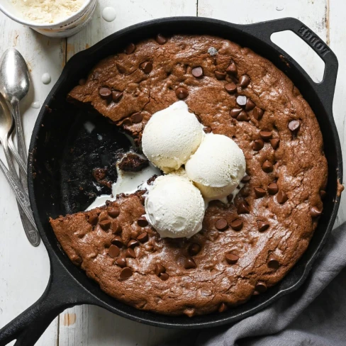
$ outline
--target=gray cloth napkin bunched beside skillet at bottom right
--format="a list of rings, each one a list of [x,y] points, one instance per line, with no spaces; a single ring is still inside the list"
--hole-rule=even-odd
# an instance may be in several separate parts
[[[167,346],[345,346],[346,223],[333,230],[304,284],[254,316],[193,331]]]

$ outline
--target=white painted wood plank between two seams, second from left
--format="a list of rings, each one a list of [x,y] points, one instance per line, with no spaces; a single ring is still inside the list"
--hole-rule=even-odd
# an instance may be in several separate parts
[[[108,23],[102,18],[106,6],[116,9],[115,21]],[[116,30],[167,16],[196,16],[196,0],[100,0],[91,23],[67,40],[67,60]],[[135,323],[96,306],[77,306],[60,315],[60,346],[160,345],[177,335],[177,330]]]

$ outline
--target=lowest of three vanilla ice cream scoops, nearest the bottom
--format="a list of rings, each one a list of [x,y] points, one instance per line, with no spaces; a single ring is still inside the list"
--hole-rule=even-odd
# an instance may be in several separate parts
[[[149,189],[145,212],[162,238],[191,238],[202,228],[204,201],[189,179],[167,174],[155,179]]]

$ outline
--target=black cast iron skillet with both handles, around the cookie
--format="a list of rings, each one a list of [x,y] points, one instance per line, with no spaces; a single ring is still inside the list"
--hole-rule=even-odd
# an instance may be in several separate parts
[[[292,30],[325,62],[323,81],[316,84],[308,74],[270,40],[272,33]],[[67,92],[77,85],[80,78],[100,59],[122,50],[129,42],[154,37],[157,33],[211,34],[252,48],[259,55],[267,57],[283,70],[298,87],[304,98],[316,113],[323,133],[325,155],[328,159],[328,195],[324,201],[323,215],[311,240],[308,250],[294,269],[277,286],[265,294],[253,297],[237,308],[225,313],[206,316],[172,317],[140,311],[116,301],[105,294],[94,281],[74,266],[62,251],[48,223],[48,216],[56,217],[73,208],[66,202],[65,182],[60,174],[65,160],[65,146],[73,138],[77,117],[74,106],[65,101]],[[284,18],[251,25],[235,25],[208,18],[179,17],[164,18],[140,23],[108,36],[88,50],[72,57],[63,70],[60,79],[45,101],[33,130],[30,143],[28,181],[30,202],[38,230],[50,257],[50,281],[43,296],[28,310],[0,330],[0,346],[16,339],[16,345],[34,345],[52,320],[66,308],[79,304],[94,304],[106,308],[125,318],[149,325],[166,328],[206,328],[235,322],[261,310],[280,296],[294,291],[306,279],[313,261],[318,256],[325,240],[332,230],[340,198],[337,196],[337,179],[342,181],[342,157],[340,141],[333,120],[333,94],[337,76],[337,58],[318,36],[300,21]],[[100,117],[102,118],[102,117]],[[73,204],[73,203],[72,203]]]

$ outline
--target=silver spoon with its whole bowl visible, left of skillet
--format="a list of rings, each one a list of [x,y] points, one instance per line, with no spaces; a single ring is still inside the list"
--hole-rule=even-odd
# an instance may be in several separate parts
[[[21,114],[19,111],[19,102],[28,94],[30,86],[28,66],[18,50],[10,48],[4,52],[4,55],[0,60],[0,93],[4,95],[6,101],[12,106],[13,118],[16,123],[16,133],[18,139],[18,152],[16,155],[14,145],[12,145],[11,138],[9,140],[9,147],[16,158],[19,167],[23,174],[20,174],[20,182],[23,185],[24,190],[28,191],[27,173],[26,173],[26,162],[28,160],[28,154],[26,152],[26,143],[24,140],[23,125],[21,121]],[[20,158],[22,160],[20,160]],[[25,162],[25,163],[24,163]],[[19,206],[18,206],[19,207]],[[19,214],[23,223],[24,231],[26,235],[31,236],[30,242],[34,246],[40,244],[40,238],[38,237],[38,231],[36,227],[33,228],[30,219],[26,218],[26,214],[22,208],[19,208]],[[35,224],[34,224],[35,225]]]

